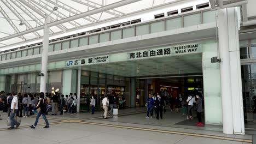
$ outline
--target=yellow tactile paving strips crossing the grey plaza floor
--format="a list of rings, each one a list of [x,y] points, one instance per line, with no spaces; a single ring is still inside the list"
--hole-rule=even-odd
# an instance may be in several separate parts
[[[124,114],[124,115],[127,115],[127,114]],[[32,117],[32,118],[34,118],[34,117]],[[89,118],[89,119],[98,119],[98,118],[99,117],[97,117],[97,118]],[[102,117],[100,117],[100,118],[102,118]],[[58,122],[50,123],[50,125],[61,124],[61,123],[81,123],[81,124],[101,125],[101,126],[105,126],[105,127],[153,131],[153,132],[157,132],[157,133],[167,133],[167,134],[177,134],[177,135],[187,135],[187,136],[198,136],[198,137],[205,137],[205,138],[210,138],[210,139],[229,140],[229,141],[237,141],[237,142],[248,142],[248,143],[252,143],[253,142],[252,140],[248,140],[248,139],[236,139],[236,138],[224,137],[224,136],[191,134],[191,133],[183,133],[183,132],[178,132],[178,131],[147,129],[147,128],[138,128],[138,127],[128,127],[128,126],[122,126],[122,125],[114,125],[114,124],[102,124],[102,123],[84,122],[86,119],[78,119],[78,120],[74,120],[74,119],[71,119],[71,120],[68,120],[68,119],[57,119],[57,118],[47,118],[47,119],[58,121]],[[45,125],[45,124],[38,124],[38,126],[43,126],[43,125]],[[28,128],[29,126],[30,125],[20,126],[19,129],[20,128]],[[7,128],[0,129],[0,131],[3,131],[3,130],[9,130],[9,129],[7,129]]]

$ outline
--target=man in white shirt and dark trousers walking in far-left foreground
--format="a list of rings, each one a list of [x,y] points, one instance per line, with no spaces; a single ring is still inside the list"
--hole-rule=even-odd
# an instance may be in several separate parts
[[[16,129],[20,126],[20,123],[16,121],[14,118],[15,114],[18,111],[18,96],[16,92],[11,93],[13,95],[13,100],[11,100],[11,113],[10,113],[10,123],[11,127],[8,129],[14,129],[14,125],[16,125]]]

